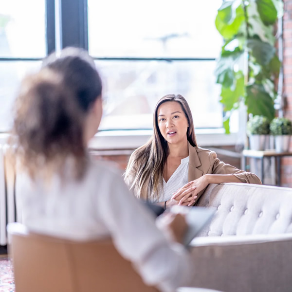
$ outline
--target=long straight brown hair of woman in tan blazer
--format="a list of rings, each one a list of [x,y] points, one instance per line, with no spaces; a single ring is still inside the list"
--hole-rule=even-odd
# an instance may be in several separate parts
[[[197,146],[193,117],[187,101],[180,94],[164,95],[155,106],[152,137],[145,145],[133,152],[125,172],[125,181],[130,184],[129,186],[134,190],[135,195],[144,200],[156,197],[163,182],[164,164],[169,154],[169,148],[158,127],[157,111],[163,103],[168,101],[178,102],[181,105],[189,125],[186,133],[187,140],[190,145]],[[147,187],[149,194],[146,198],[142,192],[145,187]]]

